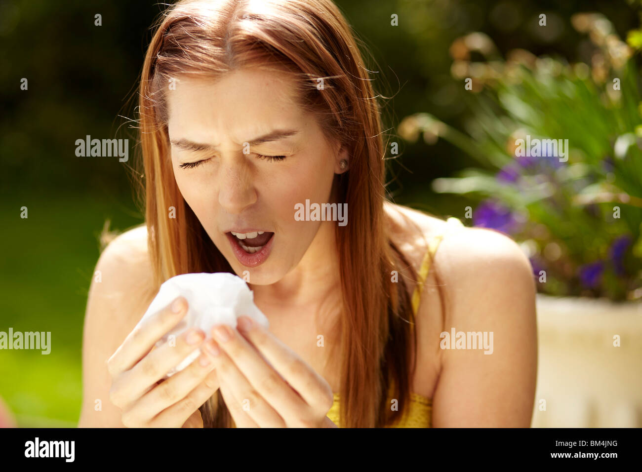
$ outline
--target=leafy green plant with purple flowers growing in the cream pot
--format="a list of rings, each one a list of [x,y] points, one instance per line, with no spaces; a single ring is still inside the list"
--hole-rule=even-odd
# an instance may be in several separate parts
[[[642,297],[638,69],[602,15],[571,21],[594,42],[591,66],[523,50],[507,60],[460,62],[455,78],[473,84],[467,132],[429,114],[407,118],[399,132],[442,137],[476,160],[476,168],[455,178],[435,179],[433,190],[469,197],[478,204],[475,225],[520,242],[541,292],[636,299]],[[520,155],[519,139],[568,140],[568,160],[560,152]]]

